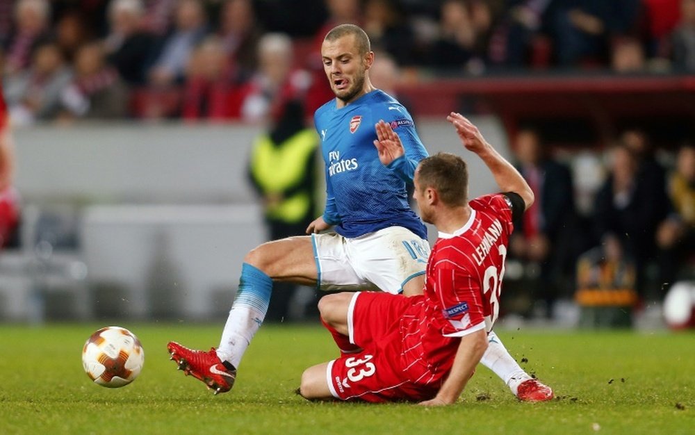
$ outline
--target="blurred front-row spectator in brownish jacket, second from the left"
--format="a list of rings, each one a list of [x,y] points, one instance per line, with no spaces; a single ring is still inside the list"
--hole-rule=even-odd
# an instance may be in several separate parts
[[[106,63],[104,47],[90,42],[77,51],[72,83],[63,90],[61,120],[113,119],[126,115],[128,92],[118,72]]]

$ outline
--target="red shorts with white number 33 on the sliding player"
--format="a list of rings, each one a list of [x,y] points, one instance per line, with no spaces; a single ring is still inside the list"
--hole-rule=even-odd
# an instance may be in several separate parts
[[[328,386],[341,400],[366,402],[420,401],[434,397],[441,386],[425,370],[414,379],[412,366],[403,351],[400,320],[416,297],[389,293],[355,293],[347,313],[350,342],[359,353],[330,361]],[[424,368],[422,368],[424,369]]]

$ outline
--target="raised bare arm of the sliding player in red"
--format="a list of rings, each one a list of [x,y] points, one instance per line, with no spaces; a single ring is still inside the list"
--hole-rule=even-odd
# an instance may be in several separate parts
[[[446,119],[454,124],[464,147],[473,151],[489,167],[502,192],[516,192],[523,199],[526,208],[533,204],[533,192],[525,179],[514,166],[483,138],[480,131],[471,121],[460,113],[452,112]]]

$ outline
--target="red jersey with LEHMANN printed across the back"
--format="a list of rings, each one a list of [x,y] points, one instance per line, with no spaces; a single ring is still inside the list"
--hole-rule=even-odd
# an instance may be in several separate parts
[[[439,233],[427,263],[425,294],[401,322],[407,359],[432,374],[448,371],[458,337],[490,331],[499,297],[512,224],[512,206],[501,194],[473,199],[471,217],[453,234]],[[424,366],[424,367],[423,367]],[[420,372],[423,374],[423,372]]]

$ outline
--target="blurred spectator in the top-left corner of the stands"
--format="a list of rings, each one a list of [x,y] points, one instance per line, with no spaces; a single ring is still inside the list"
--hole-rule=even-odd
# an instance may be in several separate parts
[[[6,74],[29,67],[35,45],[50,33],[51,6],[47,0],[19,0],[15,6],[15,31],[4,47]]]

